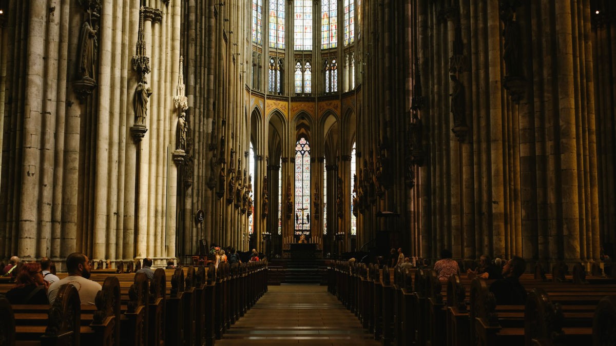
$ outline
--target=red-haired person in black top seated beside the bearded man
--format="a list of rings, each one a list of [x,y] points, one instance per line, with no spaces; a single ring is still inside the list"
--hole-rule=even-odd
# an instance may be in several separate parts
[[[41,265],[36,262],[22,264],[15,278],[15,287],[6,292],[10,304],[47,304],[47,286]]]

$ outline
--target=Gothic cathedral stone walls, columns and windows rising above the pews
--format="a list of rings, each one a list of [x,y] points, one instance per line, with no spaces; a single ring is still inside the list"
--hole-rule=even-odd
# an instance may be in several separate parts
[[[0,0],[0,259],[613,258],[615,13]]]

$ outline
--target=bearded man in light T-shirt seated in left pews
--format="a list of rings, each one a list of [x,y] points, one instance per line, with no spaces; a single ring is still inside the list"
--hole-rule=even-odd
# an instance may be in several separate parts
[[[86,255],[79,252],[73,252],[67,257],[67,272],[66,278],[55,281],[47,290],[49,304],[54,304],[55,295],[58,289],[63,284],[73,284],[79,292],[81,305],[95,305],[96,294],[102,289],[99,283],[89,280],[92,263]]]

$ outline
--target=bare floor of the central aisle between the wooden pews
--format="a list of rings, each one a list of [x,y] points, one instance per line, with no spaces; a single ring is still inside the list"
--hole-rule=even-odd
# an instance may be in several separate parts
[[[267,289],[216,345],[380,345],[327,286]]]

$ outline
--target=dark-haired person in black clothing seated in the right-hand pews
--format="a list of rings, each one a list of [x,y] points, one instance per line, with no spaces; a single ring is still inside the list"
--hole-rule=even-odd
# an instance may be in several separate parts
[[[503,267],[504,279],[496,280],[490,285],[496,305],[523,305],[526,303],[526,290],[520,283],[520,276],[526,270],[522,257],[513,256]]]

